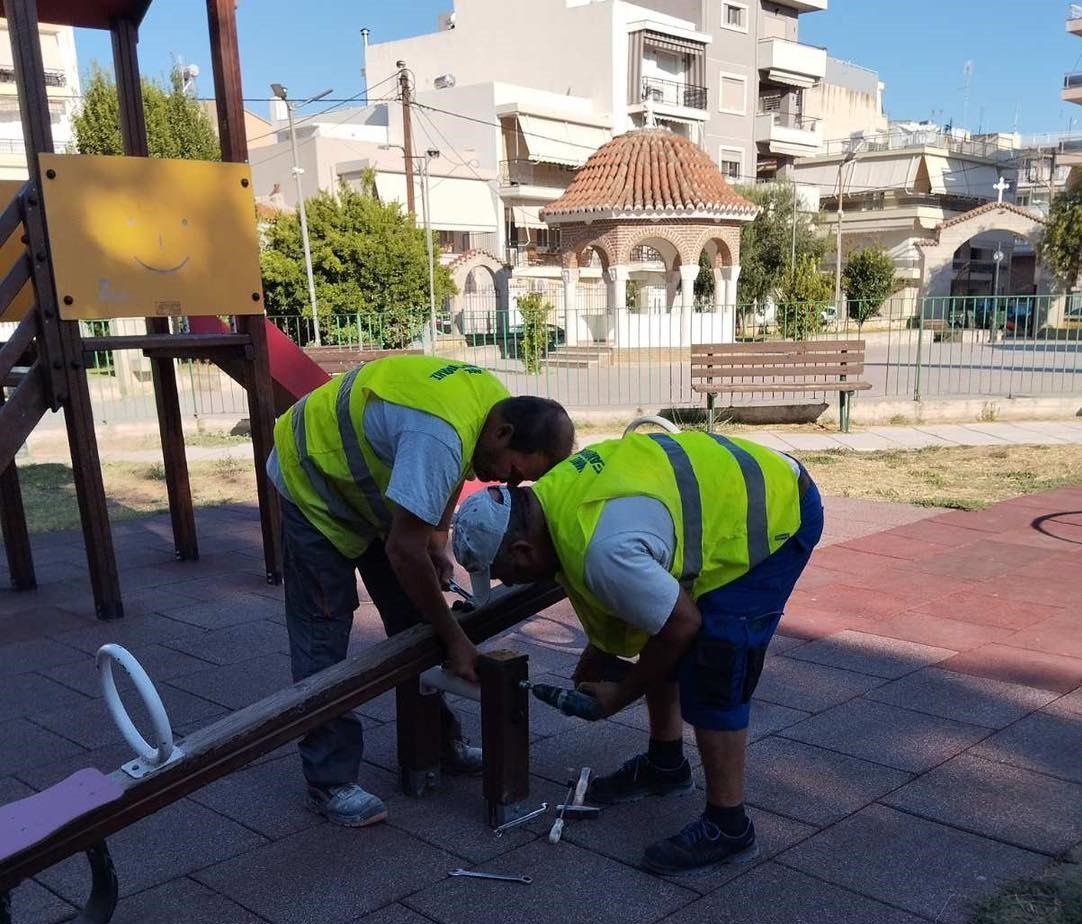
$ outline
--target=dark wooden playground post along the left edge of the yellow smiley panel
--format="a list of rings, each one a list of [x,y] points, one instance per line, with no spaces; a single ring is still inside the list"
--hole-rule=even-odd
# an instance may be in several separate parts
[[[113,547],[113,532],[109,529],[97,438],[94,434],[94,412],[83,365],[82,340],[78,321],[58,319],[49,234],[40,201],[41,184],[49,181],[42,180],[38,155],[53,150],[53,135],[41,60],[37,4],[35,0],[5,0],[4,16],[11,36],[19,109],[23,115],[26,166],[30,174],[24,223],[34,263],[36,311],[42,329],[39,348],[43,347],[42,359],[47,361],[51,377],[51,404],[54,408],[58,404],[64,407],[68,446],[71,450],[71,471],[75,475],[76,497],[97,616],[100,619],[117,619],[123,616],[123,604],[120,599],[120,578]]]

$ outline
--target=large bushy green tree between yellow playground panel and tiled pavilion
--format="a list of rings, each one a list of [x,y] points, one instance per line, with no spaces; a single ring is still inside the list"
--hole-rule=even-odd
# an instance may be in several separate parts
[[[428,319],[424,230],[397,202],[381,202],[345,182],[334,195],[321,192],[306,200],[305,210],[322,339],[373,342],[385,348],[414,340]],[[435,241],[433,249],[438,255]],[[270,220],[261,263],[267,314],[311,318],[298,213],[281,212]],[[437,260],[436,304],[456,291],[450,273]]]

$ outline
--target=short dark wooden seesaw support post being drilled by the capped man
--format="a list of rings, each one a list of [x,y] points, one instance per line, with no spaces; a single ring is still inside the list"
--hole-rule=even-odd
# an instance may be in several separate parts
[[[477,662],[480,677],[480,728],[485,749],[483,791],[488,823],[504,824],[522,815],[530,794],[529,659],[514,651],[492,651]]]

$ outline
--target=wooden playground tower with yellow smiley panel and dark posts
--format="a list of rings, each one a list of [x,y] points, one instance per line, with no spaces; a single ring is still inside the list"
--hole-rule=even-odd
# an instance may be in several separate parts
[[[267,581],[278,583],[281,573],[277,501],[263,470],[273,445],[276,388],[246,166],[236,3],[207,0],[223,161],[213,164],[146,159],[136,45],[149,5],[150,0],[0,2],[29,171],[0,212],[0,269],[6,268],[0,319],[19,321],[0,344],[0,527],[14,589],[35,589],[15,456],[47,411],[63,410],[100,619],[122,617],[123,602],[87,379],[87,357],[98,351],[141,349],[149,358],[175,554],[183,560],[197,559],[199,545],[173,362],[210,360],[245,386]],[[127,157],[53,154],[39,22],[111,34]],[[162,259],[167,237],[184,245]],[[143,248],[155,240],[159,250],[150,255]],[[224,277],[222,259],[229,261]],[[232,325],[222,326],[215,320],[221,316],[230,316]],[[116,317],[145,317],[146,333],[80,332],[81,319]],[[190,325],[200,332],[174,331],[171,319],[188,317],[204,322]],[[279,407],[287,397],[278,395]]]

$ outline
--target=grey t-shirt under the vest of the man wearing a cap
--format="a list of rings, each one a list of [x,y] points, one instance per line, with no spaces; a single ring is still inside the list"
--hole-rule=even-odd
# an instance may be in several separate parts
[[[800,472],[796,460],[777,454]],[[670,573],[675,554],[676,529],[661,501],[608,501],[586,547],[586,588],[615,616],[657,635],[679,596],[679,582]]]

